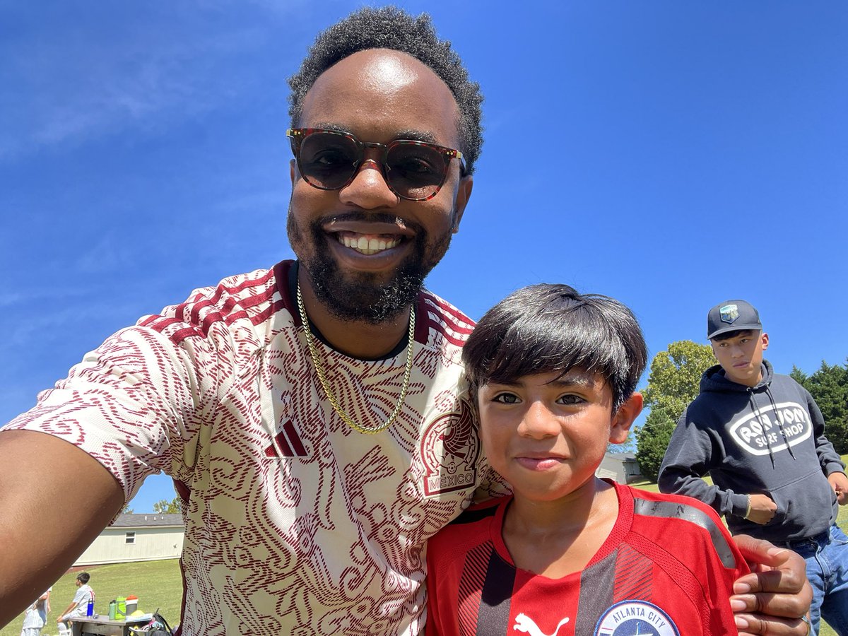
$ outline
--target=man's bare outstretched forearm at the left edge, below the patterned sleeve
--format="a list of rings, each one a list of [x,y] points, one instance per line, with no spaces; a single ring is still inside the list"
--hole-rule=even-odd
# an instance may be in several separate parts
[[[42,432],[0,431],[0,466],[3,627],[97,538],[124,492],[97,460]]]

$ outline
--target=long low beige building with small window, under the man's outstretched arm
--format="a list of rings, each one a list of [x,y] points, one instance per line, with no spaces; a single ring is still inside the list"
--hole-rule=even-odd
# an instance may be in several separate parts
[[[182,553],[183,534],[181,515],[120,515],[74,566],[177,559]]]

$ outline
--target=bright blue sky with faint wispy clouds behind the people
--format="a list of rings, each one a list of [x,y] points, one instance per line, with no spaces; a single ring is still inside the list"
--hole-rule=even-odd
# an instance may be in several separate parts
[[[292,257],[286,78],[361,4],[0,0],[0,421],[121,326]],[[845,362],[848,4],[399,4],[486,96],[434,292],[475,318],[533,282],[606,293],[652,355],[742,297],[778,371]]]

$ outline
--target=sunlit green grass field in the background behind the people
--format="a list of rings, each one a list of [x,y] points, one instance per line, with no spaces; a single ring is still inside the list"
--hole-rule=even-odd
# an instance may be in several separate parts
[[[842,460],[848,463],[848,455],[842,455]],[[643,482],[632,485],[644,490],[657,490],[656,483]],[[837,523],[848,533],[848,505],[840,507]],[[106,614],[109,611],[109,601],[116,596],[135,594],[138,597],[139,610],[154,611],[159,608],[171,627],[180,622],[182,577],[180,564],[176,559],[94,566],[86,572],[92,575],[89,583],[97,596],[94,611],[98,614]],[[53,585],[53,592],[50,594],[51,611],[42,636],[57,632],[56,618],[74,598],[76,575],[77,572],[69,572]],[[20,626],[23,622],[24,617],[18,616],[5,628],[0,629],[0,636],[20,636]],[[823,622],[819,636],[836,636],[836,632]]]

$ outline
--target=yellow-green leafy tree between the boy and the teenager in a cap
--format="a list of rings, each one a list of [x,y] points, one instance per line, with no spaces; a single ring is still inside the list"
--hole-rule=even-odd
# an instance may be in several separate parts
[[[691,340],[671,343],[651,360],[642,392],[650,413],[636,432],[636,460],[644,477],[656,481],[674,427],[698,395],[701,375],[715,362],[709,345]]]

